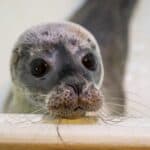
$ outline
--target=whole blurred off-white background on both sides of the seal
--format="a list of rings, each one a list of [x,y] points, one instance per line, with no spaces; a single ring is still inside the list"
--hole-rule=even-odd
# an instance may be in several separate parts
[[[0,0],[0,110],[11,85],[9,61],[17,37],[32,25],[67,20],[85,0]],[[139,0],[129,32],[125,80],[129,112],[150,116],[150,1]],[[144,115],[143,113],[143,115]]]

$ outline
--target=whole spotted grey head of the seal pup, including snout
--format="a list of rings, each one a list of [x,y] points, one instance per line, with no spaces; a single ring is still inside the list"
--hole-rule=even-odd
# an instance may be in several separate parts
[[[52,23],[27,30],[11,61],[15,92],[54,117],[80,117],[102,105],[100,50],[79,25]]]

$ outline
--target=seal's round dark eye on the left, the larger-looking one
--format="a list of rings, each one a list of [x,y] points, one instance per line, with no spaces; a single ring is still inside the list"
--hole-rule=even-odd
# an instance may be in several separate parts
[[[49,65],[42,58],[34,59],[31,62],[30,67],[31,67],[31,74],[35,77],[42,77],[49,70]]]

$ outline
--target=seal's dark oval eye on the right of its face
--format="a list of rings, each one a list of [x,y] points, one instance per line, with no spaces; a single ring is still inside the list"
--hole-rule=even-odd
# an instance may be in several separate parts
[[[82,58],[82,63],[83,65],[91,70],[91,71],[95,71],[96,67],[97,67],[97,61],[95,56],[92,53],[88,53],[86,54],[83,58]]]

